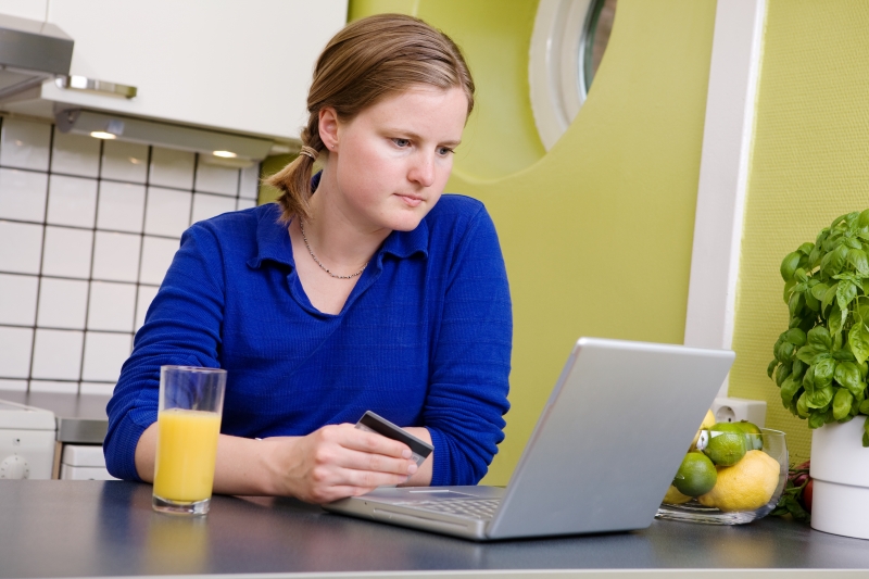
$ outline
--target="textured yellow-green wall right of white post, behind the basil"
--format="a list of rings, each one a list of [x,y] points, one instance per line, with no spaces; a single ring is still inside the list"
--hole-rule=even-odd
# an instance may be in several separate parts
[[[769,0],[743,228],[730,394],[767,401],[791,462],[806,423],[767,378],[788,326],[779,265],[836,216],[869,207],[869,2]]]

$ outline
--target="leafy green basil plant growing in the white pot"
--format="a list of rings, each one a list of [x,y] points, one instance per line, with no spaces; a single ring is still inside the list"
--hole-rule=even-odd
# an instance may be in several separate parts
[[[809,428],[869,415],[869,210],[837,217],[781,263],[788,330],[767,374]],[[869,416],[862,445],[869,446]]]

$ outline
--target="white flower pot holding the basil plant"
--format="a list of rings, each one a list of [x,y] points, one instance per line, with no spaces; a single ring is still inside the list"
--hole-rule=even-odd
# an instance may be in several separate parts
[[[869,448],[865,416],[829,424],[811,433],[811,528],[869,539]]]

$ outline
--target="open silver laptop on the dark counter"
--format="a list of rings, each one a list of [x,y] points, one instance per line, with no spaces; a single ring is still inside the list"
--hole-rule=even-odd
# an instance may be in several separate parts
[[[734,357],[580,338],[505,489],[381,487],[324,508],[476,541],[643,529]]]

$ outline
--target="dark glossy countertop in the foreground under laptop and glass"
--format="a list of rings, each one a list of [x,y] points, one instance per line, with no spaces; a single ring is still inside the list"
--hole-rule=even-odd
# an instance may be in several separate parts
[[[0,481],[0,520],[2,578],[533,577],[550,569],[616,579],[681,569],[720,579],[766,569],[765,578],[778,579],[793,569],[802,577],[866,577],[869,569],[869,541],[772,517],[735,527],[655,520],[642,531],[481,544],[327,514],[292,499],[218,495],[207,517],[180,518],[151,511],[149,484],[32,480]]]

